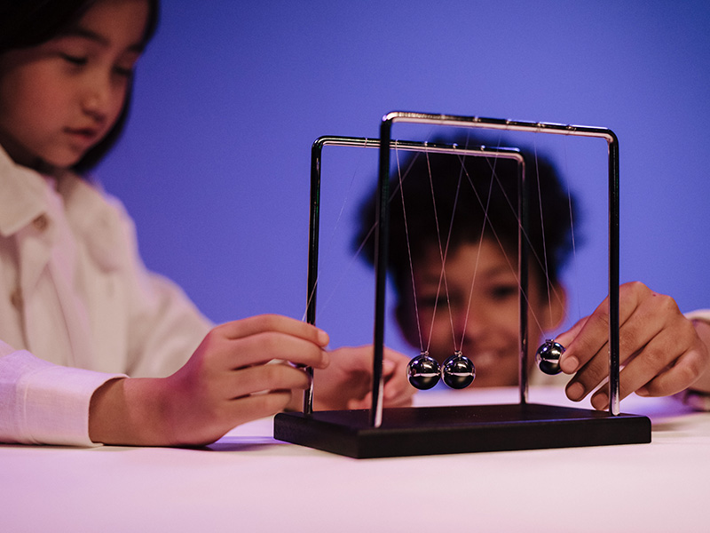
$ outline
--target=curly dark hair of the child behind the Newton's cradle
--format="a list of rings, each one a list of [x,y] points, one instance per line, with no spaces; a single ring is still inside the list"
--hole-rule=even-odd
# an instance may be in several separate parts
[[[507,145],[505,140],[495,139],[494,143],[485,140],[483,136],[469,135],[464,139],[437,139],[436,142],[455,143],[459,147],[513,146]],[[560,271],[572,251],[572,219],[576,225],[578,218],[575,214],[576,202],[546,156],[529,147],[517,147],[525,158],[525,179],[532,196],[528,202],[531,274],[540,274],[538,279],[543,286],[547,279],[554,284],[558,282]],[[485,237],[500,241],[509,257],[517,257],[516,161],[417,152],[409,155],[404,163],[399,164],[399,168],[402,187],[399,187],[397,171],[390,178],[388,251],[388,271],[398,296],[411,292],[409,251],[416,265],[426,251],[438,246],[439,235],[442,246],[448,238],[449,253],[463,243],[477,243],[483,233]],[[372,229],[376,220],[376,201],[377,191],[374,191],[360,207],[359,228],[353,242],[358,249],[365,243],[363,256],[370,265],[375,263]],[[403,211],[406,212],[406,228]],[[408,247],[406,232],[409,235]],[[578,238],[577,235],[575,238]],[[544,275],[545,267],[547,277]]]

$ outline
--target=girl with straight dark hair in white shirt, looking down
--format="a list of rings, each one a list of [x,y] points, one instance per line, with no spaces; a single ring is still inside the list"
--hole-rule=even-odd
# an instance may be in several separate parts
[[[156,0],[0,4],[0,442],[213,442],[297,408],[304,365],[317,409],[367,403],[353,376],[371,371],[370,348],[327,352],[325,332],[279,315],[210,330],[146,270],[121,204],[77,174],[122,131],[157,12]],[[406,404],[406,359],[386,357],[384,397]]]

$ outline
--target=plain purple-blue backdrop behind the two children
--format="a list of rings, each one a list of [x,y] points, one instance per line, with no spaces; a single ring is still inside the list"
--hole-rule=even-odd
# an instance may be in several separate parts
[[[163,4],[127,135],[97,174],[136,219],[146,264],[212,320],[303,316],[312,141],[376,137],[392,110],[615,131],[622,280],[684,311],[710,306],[710,4]],[[583,204],[573,321],[606,292],[605,145],[533,136],[536,147],[556,138],[549,149]],[[327,150],[319,324],[334,344],[368,342],[373,276],[351,261],[352,215],[330,227],[343,198],[353,206],[373,186],[376,151]]]

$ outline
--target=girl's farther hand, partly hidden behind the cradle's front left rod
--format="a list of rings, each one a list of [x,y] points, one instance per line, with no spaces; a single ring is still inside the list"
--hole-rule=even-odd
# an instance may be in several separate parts
[[[338,348],[330,353],[330,365],[313,376],[313,409],[369,409],[372,405],[373,346]],[[384,407],[412,404],[416,389],[406,378],[409,358],[384,349]]]

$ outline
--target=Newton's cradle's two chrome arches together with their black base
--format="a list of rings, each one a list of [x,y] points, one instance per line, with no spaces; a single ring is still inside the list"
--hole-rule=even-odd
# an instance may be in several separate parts
[[[605,139],[609,148],[609,410],[597,411],[530,403],[527,400],[528,245],[525,161],[515,148],[458,147],[391,139],[394,123],[457,128],[530,131]],[[619,141],[608,129],[556,123],[529,123],[477,116],[392,112],[383,117],[380,139],[321,137],[312,146],[311,229],[307,321],[315,323],[318,279],[321,152],[327,145],[379,147],[378,224],[375,240],[375,327],[372,405],[369,410],[313,411],[313,389],[304,394],[304,412],[274,418],[274,437],[348,457],[401,457],[551,449],[651,442],[649,418],[619,411]],[[390,149],[501,157],[518,163],[518,274],[520,279],[520,363],[518,403],[383,409],[385,285],[388,264]],[[312,376],[312,369],[308,369]],[[475,384],[474,384],[475,386]],[[452,393],[455,394],[455,393]]]

